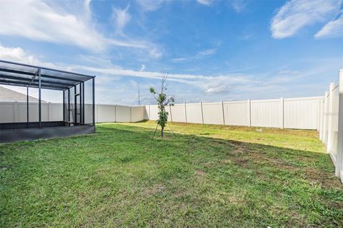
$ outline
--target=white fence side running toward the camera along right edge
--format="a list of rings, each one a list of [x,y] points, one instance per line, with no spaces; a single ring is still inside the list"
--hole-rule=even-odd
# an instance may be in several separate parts
[[[330,83],[320,104],[319,138],[327,146],[335,174],[343,182],[343,70],[337,83]]]

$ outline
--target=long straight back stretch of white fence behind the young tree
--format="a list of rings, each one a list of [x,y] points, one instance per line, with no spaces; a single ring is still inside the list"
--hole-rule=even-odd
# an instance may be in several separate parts
[[[217,125],[319,130],[322,97],[183,103],[169,106],[169,121]],[[147,118],[158,118],[157,105],[146,105]]]

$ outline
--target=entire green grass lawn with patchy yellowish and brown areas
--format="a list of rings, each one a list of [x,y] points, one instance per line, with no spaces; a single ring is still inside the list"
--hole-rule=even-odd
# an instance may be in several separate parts
[[[0,227],[343,227],[317,132],[154,127],[0,145]]]

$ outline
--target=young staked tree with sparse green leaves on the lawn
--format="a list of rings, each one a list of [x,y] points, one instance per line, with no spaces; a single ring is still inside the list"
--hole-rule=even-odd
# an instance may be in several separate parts
[[[166,126],[166,122],[168,119],[169,113],[166,112],[166,105],[174,105],[174,95],[167,98],[166,95],[166,79],[168,78],[168,74],[166,71],[161,71],[162,80],[161,80],[161,91],[156,93],[156,90],[153,87],[150,87],[150,93],[154,95],[155,100],[157,101],[157,105],[159,108],[159,119],[156,120],[157,126],[161,126],[161,137],[164,135],[164,127]],[[157,128],[156,126],[156,128]],[[156,132],[156,130],[155,130]]]

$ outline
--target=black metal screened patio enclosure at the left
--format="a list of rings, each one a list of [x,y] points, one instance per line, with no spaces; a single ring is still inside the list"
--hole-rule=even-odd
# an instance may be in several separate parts
[[[85,119],[84,83],[91,80],[91,124]],[[0,60],[0,84],[26,87],[26,123],[0,123],[0,142],[95,132],[95,76]],[[38,88],[38,122],[29,122],[29,88]],[[42,121],[41,89],[63,91],[63,121]],[[71,93],[71,90],[74,93]],[[67,94],[67,101],[66,101]],[[74,95],[74,108],[71,99]],[[74,110],[74,113],[73,113]],[[79,127],[79,128],[78,128]],[[53,128],[52,130],[47,128]],[[71,129],[72,128],[72,129]]]

